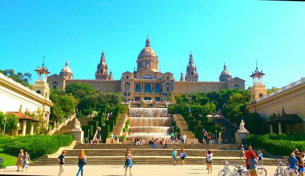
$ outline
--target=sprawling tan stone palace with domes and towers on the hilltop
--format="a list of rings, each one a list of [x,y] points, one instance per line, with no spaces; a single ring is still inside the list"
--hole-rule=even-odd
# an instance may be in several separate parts
[[[238,77],[233,78],[227,70],[226,64],[219,77],[220,81],[198,81],[199,75],[192,52],[186,75],[184,76],[181,72],[180,81],[175,81],[172,73],[162,73],[159,69],[159,58],[155,50],[151,48],[148,36],[145,47],[139,53],[136,62],[137,69],[134,69],[133,72],[122,73],[120,80],[113,80],[112,70],[108,74],[108,65],[103,50],[95,73],[96,79],[73,79],[73,73],[67,61],[59,75],[53,74],[48,77],[48,83],[51,89],[60,87],[63,90],[71,82],[88,83],[99,92],[121,92],[127,100],[136,101],[170,101],[172,97],[179,94],[208,93],[227,89],[245,90],[245,80]]]

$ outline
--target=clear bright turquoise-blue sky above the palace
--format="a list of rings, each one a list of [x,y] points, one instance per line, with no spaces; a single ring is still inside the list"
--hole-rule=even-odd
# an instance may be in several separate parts
[[[258,61],[268,88],[304,77],[305,4],[232,1],[0,1],[0,69],[94,79],[101,52],[114,79],[133,71],[147,34],[162,72],[176,80],[190,51],[199,81],[218,81],[224,62],[246,80]]]

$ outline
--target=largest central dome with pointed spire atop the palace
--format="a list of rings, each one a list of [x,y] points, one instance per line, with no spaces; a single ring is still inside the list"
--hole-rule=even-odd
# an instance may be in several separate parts
[[[143,48],[138,55],[137,71],[141,72],[149,69],[151,71],[158,72],[158,55],[154,49],[150,47],[150,40],[148,36],[145,43],[145,48]]]

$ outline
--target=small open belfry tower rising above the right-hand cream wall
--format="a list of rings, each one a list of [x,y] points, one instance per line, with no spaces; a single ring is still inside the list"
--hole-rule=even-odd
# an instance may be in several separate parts
[[[267,89],[265,84],[263,83],[264,75],[265,74],[263,73],[262,70],[261,71],[258,70],[257,62],[256,62],[256,70],[254,70],[254,72],[252,72],[252,75],[250,75],[250,77],[253,78],[253,86],[251,90],[251,102],[267,95]]]

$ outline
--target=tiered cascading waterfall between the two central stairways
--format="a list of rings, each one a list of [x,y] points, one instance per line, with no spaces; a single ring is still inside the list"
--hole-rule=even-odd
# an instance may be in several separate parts
[[[138,137],[146,142],[151,138],[170,138],[172,128],[167,108],[129,108],[130,127],[127,140]]]

